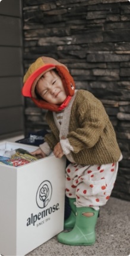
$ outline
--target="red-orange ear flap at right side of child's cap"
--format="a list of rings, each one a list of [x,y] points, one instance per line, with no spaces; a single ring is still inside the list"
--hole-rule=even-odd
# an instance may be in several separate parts
[[[56,65],[56,70],[62,79],[66,95],[73,96],[75,90],[75,82],[69,71],[62,65]]]

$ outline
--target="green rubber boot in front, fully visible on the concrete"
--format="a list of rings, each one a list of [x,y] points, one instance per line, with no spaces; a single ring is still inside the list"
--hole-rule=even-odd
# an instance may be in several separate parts
[[[86,217],[83,213],[93,213]],[[70,232],[62,232],[57,236],[65,245],[93,245],[96,242],[95,226],[99,211],[90,207],[77,208],[76,223]]]

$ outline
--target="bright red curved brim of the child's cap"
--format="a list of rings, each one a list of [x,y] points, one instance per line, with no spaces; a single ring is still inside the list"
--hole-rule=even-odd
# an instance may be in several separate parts
[[[40,68],[37,68],[37,70],[35,70],[24,83],[24,86],[22,88],[23,96],[31,98],[31,86],[33,85],[34,81],[37,79],[37,77],[40,77],[40,74],[42,75],[43,73],[45,73],[45,71],[47,72],[53,68],[55,68],[55,65],[53,64],[46,64]]]

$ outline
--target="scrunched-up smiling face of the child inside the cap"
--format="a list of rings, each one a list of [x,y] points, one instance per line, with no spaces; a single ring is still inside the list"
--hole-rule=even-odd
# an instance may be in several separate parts
[[[67,97],[61,77],[53,70],[40,77],[36,90],[45,101],[56,105],[62,104]]]

